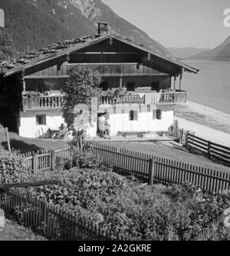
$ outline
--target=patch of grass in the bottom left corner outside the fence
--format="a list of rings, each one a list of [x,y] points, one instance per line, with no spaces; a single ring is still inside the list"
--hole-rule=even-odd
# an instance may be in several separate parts
[[[13,221],[6,221],[5,229],[0,231],[0,241],[46,241],[45,238],[35,235],[32,231]]]

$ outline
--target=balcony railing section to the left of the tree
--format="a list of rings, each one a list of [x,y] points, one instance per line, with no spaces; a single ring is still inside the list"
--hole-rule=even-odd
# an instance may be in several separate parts
[[[63,96],[41,96],[22,98],[23,110],[61,109]]]

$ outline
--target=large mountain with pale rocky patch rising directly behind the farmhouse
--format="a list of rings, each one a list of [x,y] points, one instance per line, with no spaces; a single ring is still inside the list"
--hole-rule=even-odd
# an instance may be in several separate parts
[[[169,54],[163,45],[120,18],[101,0],[0,0],[5,26],[16,52],[44,48],[55,42],[97,33],[97,22],[147,48]]]

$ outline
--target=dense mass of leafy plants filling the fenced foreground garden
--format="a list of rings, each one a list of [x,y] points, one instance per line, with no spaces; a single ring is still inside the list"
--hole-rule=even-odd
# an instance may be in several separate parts
[[[30,194],[127,240],[194,240],[230,207],[228,192],[205,194],[191,185],[131,188],[131,181],[109,171],[76,169],[62,180]]]

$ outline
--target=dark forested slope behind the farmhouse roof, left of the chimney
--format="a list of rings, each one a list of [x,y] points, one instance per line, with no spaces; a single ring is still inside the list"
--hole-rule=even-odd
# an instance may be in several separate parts
[[[39,0],[39,7],[29,0],[1,0],[0,8],[5,10],[5,26],[11,36],[13,48],[18,52],[46,47],[51,43],[69,38],[77,38],[86,32],[94,33],[95,28],[91,26],[87,18],[81,21],[84,27],[78,26],[81,12],[65,20],[64,8],[58,7],[55,15],[48,13],[51,10],[50,1]],[[42,8],[40,8],[42,6]],[[67,22],[67,25],[65,25]],[[76,24],[76,29],[71,26]]]

